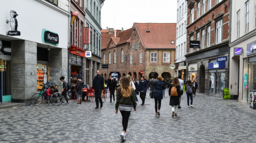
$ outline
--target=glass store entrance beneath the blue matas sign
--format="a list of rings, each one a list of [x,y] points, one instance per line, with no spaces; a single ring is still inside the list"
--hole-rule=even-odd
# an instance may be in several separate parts
[[[209,84],[209,94],[223,96],[223,90],[225,88],[225,73],[210,73]]]

